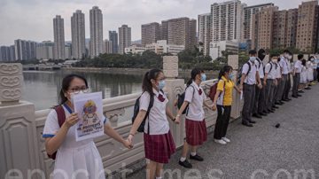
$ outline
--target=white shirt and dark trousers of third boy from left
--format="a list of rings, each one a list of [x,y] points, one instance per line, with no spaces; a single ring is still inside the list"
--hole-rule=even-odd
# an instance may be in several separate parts
[[[265,92],[265,101],[266,101],[266,110],[270,111],[273,106],[274,100],[274,90],[275,90],[275,81],[276,81],[276,64],[269,62],[265,66],[265,74],[267,75],[266,81],[266,92]]]

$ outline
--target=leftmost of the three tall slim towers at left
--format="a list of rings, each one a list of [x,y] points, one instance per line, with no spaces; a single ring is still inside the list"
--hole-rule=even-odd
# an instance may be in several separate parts
[[[57,15],[53,19],[53,32],[54,32],[54,58],[65,59],[65,34],[64,34],[64,19]]]

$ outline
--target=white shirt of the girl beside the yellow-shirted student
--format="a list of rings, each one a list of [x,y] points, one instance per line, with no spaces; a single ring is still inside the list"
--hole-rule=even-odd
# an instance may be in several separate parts
[[[187,101],[190,104],[188,112],[186,113],[186,118],[191,121],[203,121],[205,117],[203,109],[203,103],[206,99],[205,92],[195,82],[192,82],[191,86],[189,86],[185,91],[184,101]],[[202,91],[201,95],[199,95],[199,90]]]

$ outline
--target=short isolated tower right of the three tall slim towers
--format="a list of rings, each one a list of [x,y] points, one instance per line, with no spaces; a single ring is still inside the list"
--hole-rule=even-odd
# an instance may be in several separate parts
[[[131,45],[131,27],[122,25],[119,27],[119,53],[124,54],[125,48]]]

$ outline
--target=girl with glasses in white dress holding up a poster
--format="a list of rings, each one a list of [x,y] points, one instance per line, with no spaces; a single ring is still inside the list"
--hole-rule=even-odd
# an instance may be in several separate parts
[[[45,150],[49,155],[57,152],[53,178],[105,178],[101,156],[92,138],[75,141],[75,124],[79,121],[74,113],[71,98],[74,95],[88,92],[87,80],[76,74],[67,75],[62,81],[60,90],[60,106],[66,115],[66,121],[61,127],[58,124],[58,113],[52,110],[45,121],[43,137]],[[105,134],[130,148],[130,143],[124,140],[106,121]],[[86,172],[87,174],[84,174]],[[78,173],[78,175],[76,175]]]

